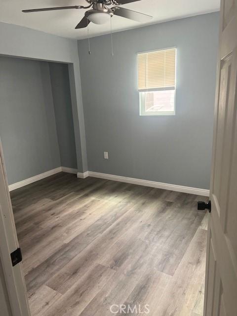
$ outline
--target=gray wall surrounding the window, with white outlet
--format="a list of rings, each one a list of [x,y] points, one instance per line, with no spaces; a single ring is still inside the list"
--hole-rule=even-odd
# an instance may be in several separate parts
[[[78,41],[88,169],[208,189],[219,13]],[[136,53],[177,47],[176,115],[139,116]],[[103,152],[109,152],[109,160]]]

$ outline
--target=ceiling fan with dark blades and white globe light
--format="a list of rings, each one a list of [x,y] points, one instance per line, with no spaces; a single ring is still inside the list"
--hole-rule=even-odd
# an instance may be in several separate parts
[[[73,5],[73,6],[59,6],[54,8],[30,9],[23,10],[22,12],[39,12],[39,11],[52,11],[52,10],[65,10],[65,9],[88,9],[84,17],[76,26],[76,29],[82,29],[88,26],[90,22],[95,24],[104,24],[108,22],[113,15],[122,16],[124,18],[138,21],[147,22],[152,19],[152,16],[136,12],[133,10],[125,9],[119,5],[140,1],[140,0],[85,0],[89,3],[87,6]],[[113,7],[110,7],[114,5]]]

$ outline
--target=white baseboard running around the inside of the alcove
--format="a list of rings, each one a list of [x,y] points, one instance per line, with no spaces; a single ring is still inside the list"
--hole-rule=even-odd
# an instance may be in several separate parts
[[[67,173],[74,173],[74,174],[78,173],[77,169],[72,169],[72,168],[68,168],[68,167],[58,167],[58,168],[55,168],[55,169],[52,169],[52,170],[40,173],[40,174],[38,174],[38,175],[36,175],[34,177],[31,177],[31,178],[28,178],[28,179],[25,179],[25,180],[22,180],[22,181],[10,184],[8,186],[8,189],[9,189],[9,191],[13,191],[13,190],[16,190],[16,189],[19,189],[21,187],[27,186],[28,184],[31,184],[33,182],[36,182],[36,181],[39,181],[41,179],[47,178],[47,177],[49,177],[49,176],[51,176],[53,174],[56,174],[56,173],[62,172],[62,171],[63,172],[67,172]]]

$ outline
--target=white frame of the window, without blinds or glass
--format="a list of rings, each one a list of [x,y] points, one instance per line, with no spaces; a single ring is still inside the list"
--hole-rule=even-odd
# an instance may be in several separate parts
[[[152,53],[152,52],[158,52],[161,50],[169,50],[169,49],[175,49],[175,85],[174,89],[173,87],[161,87],[161,88],[150,88],[150,89],[141,89],[138,88],[138,55],[139,54],[146,54],[146,53]],[[144,52],[138,52],[137,53],[137,90],[139,93],[139,111],[140,116],[175,116],[176,113],[176,74],[177,74],[177,47],[167,47],[167,48],[160,48],[160,49],[154,49]],[[146,112],[145,111],[145,93],[146,92],[156,92],[156,91],[167,91],[167,90],[174,90],[174,111],[169,112]]]

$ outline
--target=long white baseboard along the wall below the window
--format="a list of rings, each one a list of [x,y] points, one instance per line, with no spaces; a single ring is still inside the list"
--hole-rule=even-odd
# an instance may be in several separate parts
[[[88,176],[94,177],[94,178],[101,178],[101,179],[137,184],[137,185],[145,186],[145,187],[152,187],[152,188],[158,188],[158,189],[164,189],[164,190],[170,190],[170,191],[190,193],[190,194],[195,194],[197,196],[209,197],[209,190],[205,190],[205,189],[185,187],[185,186],[179,186],[175,184],[162,183],[162,182],[156,182],[156,181],[150,181],[150,180],[128,178],[128,177],[116,176],[113,174],[106,174],[106,173],[93,172],[93,171],[88,171]]]

